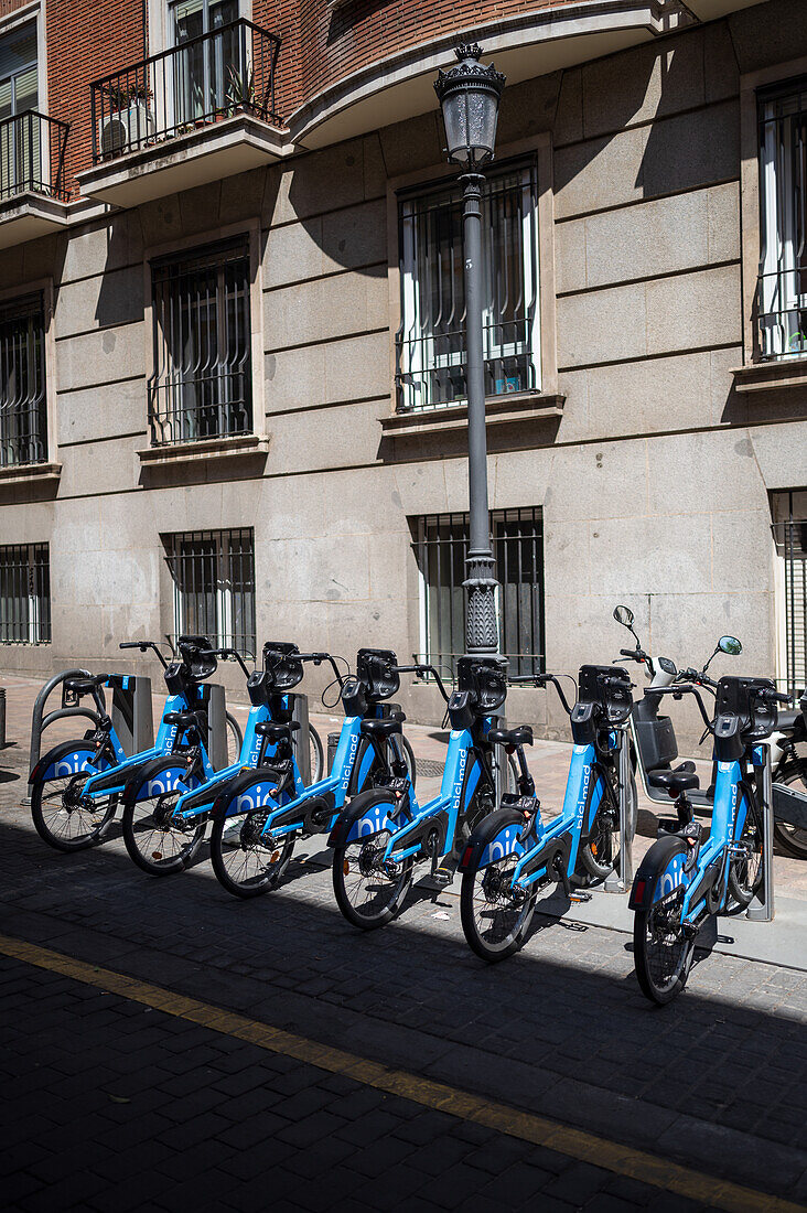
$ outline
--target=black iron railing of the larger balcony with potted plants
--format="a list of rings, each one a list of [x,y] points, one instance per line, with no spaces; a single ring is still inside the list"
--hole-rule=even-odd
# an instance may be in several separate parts
[[[278,125],[280,39],[240,19],[91,85],[92,160],[114,160],[235,114]]]

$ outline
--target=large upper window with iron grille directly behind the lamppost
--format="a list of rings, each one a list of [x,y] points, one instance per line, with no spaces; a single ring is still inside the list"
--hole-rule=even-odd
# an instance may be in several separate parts
[[[466,399],[462,194],[402,195],[398,409]],[[538,180],[534,164],[490,173],[482,200],[485,393],[540,392]]]

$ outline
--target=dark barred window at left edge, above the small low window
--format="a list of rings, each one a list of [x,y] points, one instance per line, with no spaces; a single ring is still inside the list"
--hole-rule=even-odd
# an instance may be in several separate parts
[[[45,302],[0,307],[0,467],[47,460]]]

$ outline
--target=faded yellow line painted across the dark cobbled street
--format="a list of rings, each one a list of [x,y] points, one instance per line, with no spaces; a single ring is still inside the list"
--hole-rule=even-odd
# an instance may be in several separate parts
[[[405,1070],[393,1070],[377,1061],[346,1053],[342,1049],[319,1044],[305,1036],[285,1032],[269,1024],[262,1024],[245,1015],[225,1010],[187,998],[172,990],[138,981],[136,978],[114,973],[84,961],[76,961],[61,952],[53,952],[36,944],[0,935],[0,953],[62,976],[73,978],[85,985],[96,986],[107,993],[120,995],[130,1002],[138,1002],[166,1015],[200,1024],[215,1032],[234,1036],[248,1041],[258,1048],[284,1057],[295,1058],[306,1065],[317,1066],[330,1074],[343,1074],[368,1087],[375,1087],[392,1095],[409,1099],[422,1107],[436,1109],[456,1116],[460,1120],[474,1121],[499,1133],[530,1141],[534,1145],[547,1146],[558,1154],[602,1167],[616,1175],[627,1175],[653,1188],[660,1188],[677,1196],[686,1196],[714,1208],[727,1209],[728,1213],[799,1213],[805,1206],[794,1205],[778,1196],[743,1188],[726,1179],[716,1179],[699,1171],[691,1171],[676,1162],[619,1145],[593,1133],[570,1128],[535,1116],[532,1112],[498,1104],[470,1092],[449,1087],[442,1082],[432,1082]]]

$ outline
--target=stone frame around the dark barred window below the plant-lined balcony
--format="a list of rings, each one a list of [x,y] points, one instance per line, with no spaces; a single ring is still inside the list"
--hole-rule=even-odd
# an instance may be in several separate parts
[[[163,445],[154,445],[152,426],[150,426],[150,414],[148,404],[148,386],[154,375],[155,366],[155,348],[154,348],[154,295],[153,295],[153,274],[152,274],[152,262],[159,261],[163,257],[170,257],[174,255],[188,254],[191,256],[194,250],[201,251],[209,245],[220,244],[221,241],[233,239],[235,237],[246,237],[249,245],[249,308],[250,308],[250,368],[252,376],[252,426],[246,434],[252,435],[257,439],[266,438],[266,386],[265,386],[265,374],[263,374],[263,275],[262,275],[262,257],[261,257],[261,221],[260,218],[250,220],[248,223],[229,223],[220,228],[214,228],[209,232],[200,232],[193,237],[184,237],[181,240],[171,240],[166,244],[149,245],[143,250],[143,321],[144,321],[144,340],[143,340],[143,370],[147,389],[146,400],[146,427],[148,433],[148,450],[159,450],[166,457],[170,459],[171,452],[176,452],[177,456],[182,456],[194,448],[204,446],[205,450],[209,448],[216,448],[217,445],[227,446],[228,443],[233,442],[233,437],[216,437],[205,439],[192,439],[189,442],[176,442]],[[235,435],[238,439],[243,439],[245,434]]]

